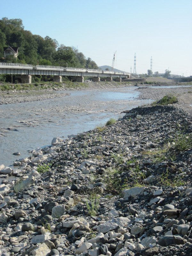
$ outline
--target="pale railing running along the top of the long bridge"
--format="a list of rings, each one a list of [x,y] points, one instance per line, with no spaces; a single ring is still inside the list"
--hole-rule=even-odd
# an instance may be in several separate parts
[[[63,71],[70,71],[70,70],[74,70],[74,71],[79,71],[79,72],[84,72],[84,73],[108,73],[108,74],[130,74],[128,72],[122,72],[122,71],[110,71],[110,70],[100,70],[100,69],[85,69],[85,68],[68,68],[68,67],[57,67],[57,66],[43,66],[43,65],[29,65],[29,64],[17,64],[17,63],[0,63],[0,66],[7,66],[7,67],[20,67],[20,68],[33,68],[33,69],[38,69],[38,68],[44,68],[46,69],[61,69]]]

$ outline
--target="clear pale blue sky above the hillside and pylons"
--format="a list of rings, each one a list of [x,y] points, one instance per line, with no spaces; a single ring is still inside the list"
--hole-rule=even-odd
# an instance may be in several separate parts
[[[137,73],[192,75],[191,0],[0,0],[0,19],[21,19],[26,30],[78,46],[98,66]]]

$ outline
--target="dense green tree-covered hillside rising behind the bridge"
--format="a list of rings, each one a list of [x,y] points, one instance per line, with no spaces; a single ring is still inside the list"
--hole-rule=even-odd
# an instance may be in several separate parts
[[[65,43],[65,42],[63,42]],[[19,47],[19,56],[4,59],[3,47]],[[98,69],[91,58],[85,58],[75,47],[58,44],[49,36],[43,38],[25,30],[21,19],[2,18],[0,20],[0,62],[32,65],[50,65]],[[66,64],[67,63],[67,64]]]

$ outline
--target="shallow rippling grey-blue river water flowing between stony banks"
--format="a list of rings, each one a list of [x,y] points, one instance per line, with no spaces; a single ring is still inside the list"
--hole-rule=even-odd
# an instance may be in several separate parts
[[[109,118],[151,100],[137,100],[134,88],[64,91],[70,96],[0,105],[0,164],[12,165],[29,150],[51,145],[53,137],[64,137],[94,129]],[[20,152],[20,156],[12,153]]]

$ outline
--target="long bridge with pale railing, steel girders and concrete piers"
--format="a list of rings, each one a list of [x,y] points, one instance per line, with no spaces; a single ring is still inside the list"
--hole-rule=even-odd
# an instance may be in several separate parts
[[[0,63],[0,74],[21,75],[22,83],[31,83],[32,75],[51,75],[54,82],[62,82],[62,76],[71,76],[77,82],[84,82],[84,76],[93,77],[92,80],[94,82],[99,82],[100,77],[105,78],[106,81],[112,81],[112,78],[116,78],[117,82],[121,82],[121,78],[130,78],[130,73],[128,72],[41,65],[33,66],[17,63]]]

